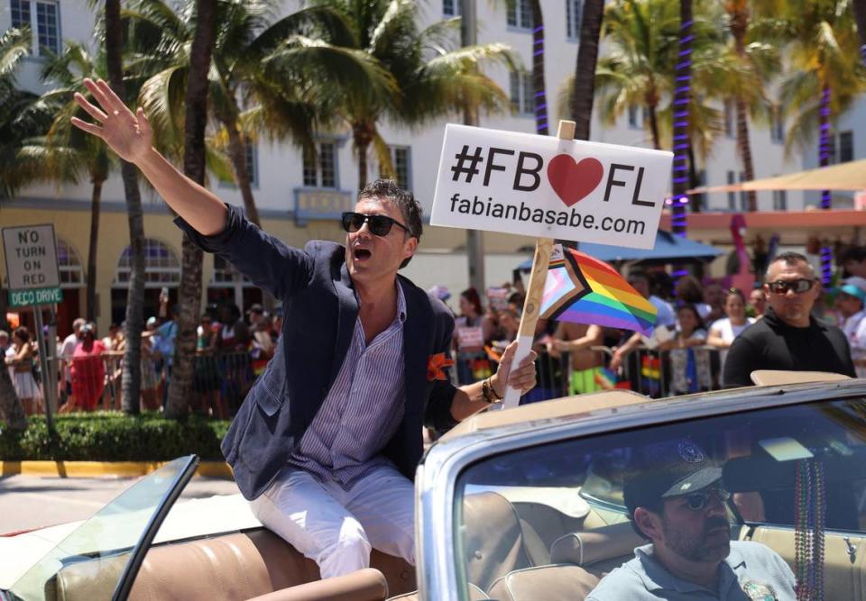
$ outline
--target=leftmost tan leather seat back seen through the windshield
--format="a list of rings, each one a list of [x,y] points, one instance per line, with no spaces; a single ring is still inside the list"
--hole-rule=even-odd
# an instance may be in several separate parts
[[[469,582],[486,590],[496,578],[532,567],[521,521],[504,496],[494,492],[464,496],[463,524]]]

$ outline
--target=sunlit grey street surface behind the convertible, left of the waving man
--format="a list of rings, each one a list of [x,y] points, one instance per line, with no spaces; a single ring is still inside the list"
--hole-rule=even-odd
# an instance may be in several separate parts
[[[0,478],[0,534],[81,520],[139,478]],[[235,482],[192,478],[182,498],[234,495]]]

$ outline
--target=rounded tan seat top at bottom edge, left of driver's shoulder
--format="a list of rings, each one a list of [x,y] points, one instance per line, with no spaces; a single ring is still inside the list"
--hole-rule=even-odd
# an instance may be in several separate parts
[[[578,566],[539,566],[509,572],[488,593],[499,601],[582,601],[598,581]]]

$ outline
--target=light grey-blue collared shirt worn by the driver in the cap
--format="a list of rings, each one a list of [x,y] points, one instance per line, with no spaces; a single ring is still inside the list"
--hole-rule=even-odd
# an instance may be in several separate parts
[[[760,542],[731,543],[731,552],[719,566],[717,591],[671,574],[648,544],[602,578],[586,601],[794,601],[794,583],[785,560]]]

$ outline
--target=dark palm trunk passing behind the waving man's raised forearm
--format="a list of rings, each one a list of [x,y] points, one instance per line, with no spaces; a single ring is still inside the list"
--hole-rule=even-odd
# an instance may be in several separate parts
[[[205,183],[205,128],[207,127],[207,72],[210,69],[214,42],[217,40],[217,6],[211,0],[198,0],[195,35],[189,50],[186,116],[184,119],[183,172],[200,185]],[[180,269],[179,327],[175,339],[166,415],[180,417],[189,408],[192,390],[193,359],[196,354],[196,326],[201,304],[201,268],[203,253],[183,234]]]

